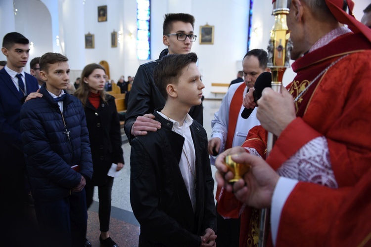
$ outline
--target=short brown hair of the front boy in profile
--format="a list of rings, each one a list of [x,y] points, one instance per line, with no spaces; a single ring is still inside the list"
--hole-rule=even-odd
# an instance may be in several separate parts
[[[161,58],[153,72],[154,82],[162,96],[168,99],[166,86],[178,83],[182,70],[190,63],[197,62],[197,55],[194,52],[188,54],[169,54]]]

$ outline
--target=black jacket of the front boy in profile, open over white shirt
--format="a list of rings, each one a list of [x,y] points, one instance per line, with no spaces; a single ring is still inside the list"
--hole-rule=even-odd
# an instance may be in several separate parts
[[[131,149],[130,201],[140,223],[139,246],[199,247],[207,228],[216,231],[206,131],[196,121],[190,126],[196,154],[194,213],[179,169],[185,138],[172,131],[172,122],[153,114],[162,128],[133,139]]]

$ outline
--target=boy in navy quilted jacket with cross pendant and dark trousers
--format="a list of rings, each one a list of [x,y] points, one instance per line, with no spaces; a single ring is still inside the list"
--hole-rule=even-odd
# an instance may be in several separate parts
[[[40,59],[42,97],[21,108],[27,172],[35,198],[42,246],[84,246],[87,209],[84,186],[93,175],[89,133],[81,101],[66,93],[67,57]]]

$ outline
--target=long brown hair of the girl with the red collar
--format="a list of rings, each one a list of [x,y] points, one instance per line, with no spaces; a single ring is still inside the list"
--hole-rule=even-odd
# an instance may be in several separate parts
[[[103,66],[101,66],[100,64],[96,64],[96,63],[91,63],[91,64],[88,64],[87,66],[85,66],[85,68],[83,69],[83,72],[81,73],[81,79],[82,81],[84,81],[84,78],[88,78],[95,69],[101,69],[104,71],[104,73],[106,73],[106,70],[103,68]],[[76,89],[76,92],[74,93],[74,95],[81,100],[81,103],[83,103],[84,107],[86,106],[86,102],[90,96],[90,87],[88,85],[88,83],[84,83],[84,82],[80,82],[80,86],[79,88]],[[107,103],[106,101],[106,92],[103,90],[103,91],[100,91],[99,93],[99,96],[100,98],[105,102]]]

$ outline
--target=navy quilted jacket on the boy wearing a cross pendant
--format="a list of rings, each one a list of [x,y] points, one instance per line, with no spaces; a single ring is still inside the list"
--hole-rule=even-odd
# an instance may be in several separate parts
[[[71,193],[81,180],[93,174],[89,133],[80,100],[67,94],[63,100],[63,118],[56,101],[44,85],[42,98],[27,101],[21,108],[24,156],[32,187],[38,199],[58,200]],[[71,168],[80,165],[80,172]]]

